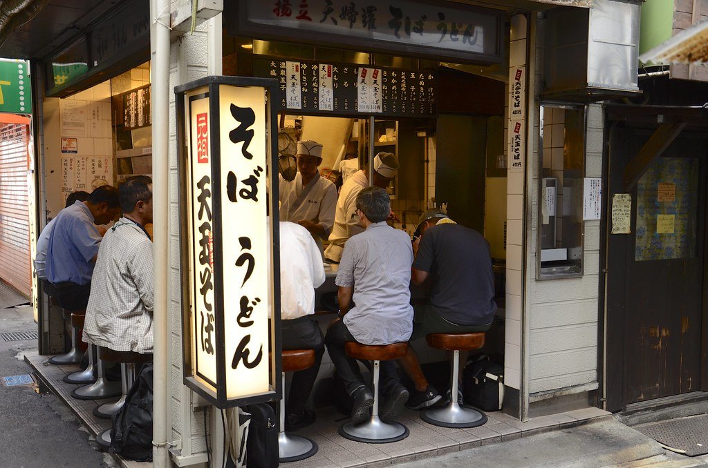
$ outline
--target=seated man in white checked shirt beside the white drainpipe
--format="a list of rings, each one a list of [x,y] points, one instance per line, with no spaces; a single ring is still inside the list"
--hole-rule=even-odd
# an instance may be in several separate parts
[[[93,271],[84,341],[113,351],[152,353],[154,273],[152,180],[130,177],[120,185],[123,216],[105,233]]]

